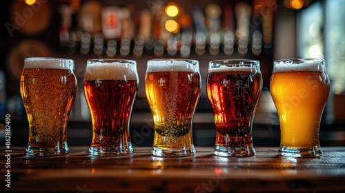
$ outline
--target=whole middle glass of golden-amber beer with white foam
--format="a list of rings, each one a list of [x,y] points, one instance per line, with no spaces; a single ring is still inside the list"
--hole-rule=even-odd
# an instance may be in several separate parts
[[[192,156],[192,122],[200,97],[199,62],[188,59],[148,61],[145,90],[155,125],[152,154]]]

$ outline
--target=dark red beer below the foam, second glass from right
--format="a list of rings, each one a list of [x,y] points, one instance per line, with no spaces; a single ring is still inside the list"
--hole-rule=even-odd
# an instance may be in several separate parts
[[[206,89],[215,119],[215,147],[253,148],[252,124],[262,90],[261,74],[209,69]]]

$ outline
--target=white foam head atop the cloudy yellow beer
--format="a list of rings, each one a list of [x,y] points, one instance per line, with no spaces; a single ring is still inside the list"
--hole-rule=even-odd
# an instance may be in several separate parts
[[[274,62],[274,72],[324,71],[323,59],[284,59]]]

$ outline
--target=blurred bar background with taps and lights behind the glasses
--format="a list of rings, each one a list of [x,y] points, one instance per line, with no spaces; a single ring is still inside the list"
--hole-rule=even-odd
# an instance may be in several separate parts
[[[83,96],[87,59],[134,59],[139,96],[131,121],[134,146],[150,146],[153,121],[144,90],[146,62],[199,61],[201,98],[193,124],[197,146],[213,146],[215,125],[206,98],[208,61],[260,61],[264,88],[253,125],[255,146],[279,146],[279,120],[269,91],[273,61],[322,58],[331,94],[321,145],[345,145],[345,1],[343,0],[4,0],[0,17],[0,123],[11,117],[11,145],[25,146],[28,121],[19,94],[26,57],[75,60],[79,83],[68,122],[69,145],[90,145],[92,125]],[[2,117],[2,118],[1,118]],[[5,144],[3,125],[0,143]]]

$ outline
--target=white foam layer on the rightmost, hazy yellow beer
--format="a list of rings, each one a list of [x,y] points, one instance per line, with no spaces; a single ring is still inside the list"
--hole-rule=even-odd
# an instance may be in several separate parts
[[[294,63],[291,61],[277,61],[275,62],[275,72],[289,72],[289,71],[319,71],[322,72],[323,65],[319,65],[320,61],[302,61]]]

